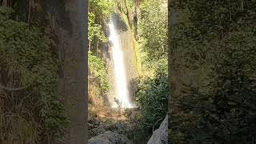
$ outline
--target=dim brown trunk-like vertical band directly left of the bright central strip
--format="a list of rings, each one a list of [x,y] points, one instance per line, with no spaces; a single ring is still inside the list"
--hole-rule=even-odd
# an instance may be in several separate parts
[[[72,25],[71,33],[63,34],[63,42],[66,42],[66,59],[64,60],[64,79],[66,86],[63,90],[65,107],[67,114],[70,116],[70,127],[67,129],[66,144],[81,144],[87,140],[87,114],[86,114],[86,46],[85,34],[82,27],[85,28],[86,18],[85,2],[79,0],[65,1],[66,9],[69,11],[69,18]],[[78,7],[80,10],[78,10]],[[82,9],[82,10],[81,10]],[[70,27],[71,28],[71,27]]]

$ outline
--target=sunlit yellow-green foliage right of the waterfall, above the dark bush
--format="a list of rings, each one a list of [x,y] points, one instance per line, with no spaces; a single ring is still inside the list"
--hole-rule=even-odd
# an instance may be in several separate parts
[[[167,67],[167,7],[166,1],[142,2],[138,25],[142,70],[156,74],[158,66]],[[166,71],[166,70],[164,70]]]

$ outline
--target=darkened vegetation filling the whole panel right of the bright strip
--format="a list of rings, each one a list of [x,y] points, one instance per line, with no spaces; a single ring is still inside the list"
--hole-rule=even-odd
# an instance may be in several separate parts
[[[170,143],[255,143],[255,4],[170,3]]]

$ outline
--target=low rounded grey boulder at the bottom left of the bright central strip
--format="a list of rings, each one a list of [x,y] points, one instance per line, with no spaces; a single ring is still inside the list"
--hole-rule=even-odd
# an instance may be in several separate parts
[[[99,134],[90,138],[88,144],[133,144],[125,135],[106,131],[104,134]]]

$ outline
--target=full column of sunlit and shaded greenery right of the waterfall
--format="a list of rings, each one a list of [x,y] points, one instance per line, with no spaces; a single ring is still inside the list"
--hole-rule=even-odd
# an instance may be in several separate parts
[[[138,25],[142,71],[147,74],[140,79],[135,97],[141,107],[142,126],[146,126],[146,130],[151,130],[154,122],[159,118],[163,120],[167,113],[167,6],[162,6],[165,2],[142,2],[141,22]]]

